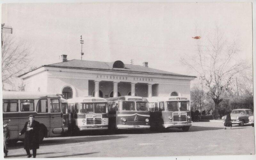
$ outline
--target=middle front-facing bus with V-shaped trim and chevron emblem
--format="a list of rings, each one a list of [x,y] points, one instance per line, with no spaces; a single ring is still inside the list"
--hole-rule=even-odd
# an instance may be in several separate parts
[[[150,128],[147,98],[120,96],[106,99],[108,100],[110,129]]]

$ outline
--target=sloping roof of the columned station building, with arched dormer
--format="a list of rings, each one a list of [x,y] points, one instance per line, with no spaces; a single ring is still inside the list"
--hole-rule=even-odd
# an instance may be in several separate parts
[[[124,71],[124,72],[137,72],[146,74],[157,74],[157,75],[168,75],[168,76],[183,76],[183,77],[194,77],[182,75],[164,70],[153,69],[140,65],[124,64],[124,68],[113,68],[114,62],[99,62],[99,61],[85,61],[85,60],[70,60],[66,62],[54,63],[49,65],[43,65],[41,67],[55,67],[55,68],[68,68],[68,69],[86,69],[86,70],[108,70],[108,71]],[[39,67],[39,68],[41,68]],[[28,72],[27,72],[28,73]],[[20,76],[23,76],[24,73]],[[18,76],[18,77],[20,77]]]

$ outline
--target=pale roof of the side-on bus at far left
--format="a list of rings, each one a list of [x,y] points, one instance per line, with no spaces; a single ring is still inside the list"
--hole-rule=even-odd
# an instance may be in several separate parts
[[[56,93],[47,92],[24,92],[24,91],[3,91],[3,99],[39,99],[39,98],[60,98]]]

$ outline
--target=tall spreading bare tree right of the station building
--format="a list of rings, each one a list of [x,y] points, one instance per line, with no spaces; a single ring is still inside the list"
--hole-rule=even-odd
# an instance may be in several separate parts
[[[224,39],[218,26],[214,32],[196,41],[196,54],[181,57],[181,62],[198,73],[207,95],[215,103],[217,116],[219,104],[223,98],[228,98],[236,76],[249,65],[236,58],[239,52],[236,40],[229,42]]]

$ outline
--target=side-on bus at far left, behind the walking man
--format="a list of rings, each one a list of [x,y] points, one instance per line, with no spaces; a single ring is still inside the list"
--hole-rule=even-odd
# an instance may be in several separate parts
[[[39,139],[63,133],[60,97],[42,92],[3,91],[3,120],[9,121],[12,142],[23,141],[19,136],[30,114],[40,123]],[[49,107],[50,108],[49,108]]]

